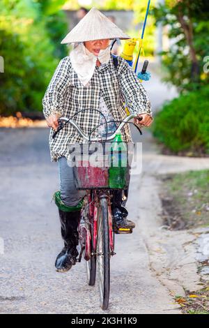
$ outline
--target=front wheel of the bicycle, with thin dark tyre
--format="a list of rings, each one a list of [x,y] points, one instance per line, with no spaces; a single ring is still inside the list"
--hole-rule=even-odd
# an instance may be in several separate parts
[[[108,203],[106,197],[100,199],[100,211],[98,217],[98,278],[100,305],[102,310],[109,306],[109,280],[110,280],[110,248],[109,248],[109,222]]]

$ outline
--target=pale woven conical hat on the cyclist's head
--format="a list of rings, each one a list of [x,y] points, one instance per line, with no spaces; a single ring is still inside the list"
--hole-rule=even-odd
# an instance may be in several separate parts
[[[63,38],[61,43],[75,43],[100,39],[128,39],[130,36],[123,33],[108,17],[98,9],[92,8],[88,14]]]

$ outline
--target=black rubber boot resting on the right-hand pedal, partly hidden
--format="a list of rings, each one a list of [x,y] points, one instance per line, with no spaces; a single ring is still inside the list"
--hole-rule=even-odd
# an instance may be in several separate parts
[[[125,196],[125,200],[124,200]],[[117,228],[135,228],[135,223],[133,221],[127,220],[128,211],[125,208],[125,203],[127,201],[127,191],[114,191],[114,222]]]

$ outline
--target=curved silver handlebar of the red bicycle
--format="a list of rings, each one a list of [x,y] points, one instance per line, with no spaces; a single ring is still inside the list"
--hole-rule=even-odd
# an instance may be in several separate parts
[[[110,141],[113,140],[114,137],[116,136],[116,133],[121,132],[121,129],[123,128],[123,126],[125,126],[125,124],[130,121],[131,119],[134,119],[134,117],[137,117],[137,114],[130,114],[129,116],[125,117],[125,119],[121,122],[120,126],[118,126],[117,130],[112,134],[109,135],[109,137],[105,138],[106,141]],[[139,121],[141,121],[142,117],[139,117]],[[68,117],[60,117],[59,121],[61,123],[61,126],[53,133],[52,135],[52,139],[54,139],[54,137],[56,136],[57,133],[59,133],[59,131],[61,131],[61,129],[64,127],[63,123],[70,123],[72,124],[72,126],[74,126],[77,130],[77,132],[79,133],[79,135],[81,135],[85,140],[89,141],[89,136],[86,135],[81,128],[79,128],[79,126],[75,123],[75,121],[73,121],[72,119],[68,119]],[[98,141],[102,141],[104,140],[104,137],[96,137],[96,138],[91,138],[91,142],[98,142]]]

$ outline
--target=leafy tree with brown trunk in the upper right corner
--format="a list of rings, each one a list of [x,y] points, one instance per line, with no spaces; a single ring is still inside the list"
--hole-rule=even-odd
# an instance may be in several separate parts
[[[169,50],[162,52],[164,80],[175,84],[179,91],[207,85],[209,75],[203,72],[203,60],[209,54],[208,1],[167,0],[153,13],[157,22],[167,26],[171,40]]]

